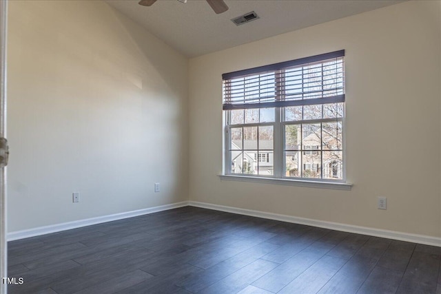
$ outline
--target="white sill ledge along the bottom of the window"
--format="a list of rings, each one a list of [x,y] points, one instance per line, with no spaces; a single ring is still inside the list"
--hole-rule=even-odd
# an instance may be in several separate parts
[[[290,180],[285,178],[263,178],[256,176],[219,175],[220,180],[235,180],[238,182],[260,182],[263,184],[311,187],[320,189],[351,190],[352,184],[347,182],[316,182],[312,180]]]

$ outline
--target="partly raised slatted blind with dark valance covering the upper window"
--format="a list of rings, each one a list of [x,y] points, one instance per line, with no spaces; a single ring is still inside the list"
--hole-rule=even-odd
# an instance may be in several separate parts
[[[345,102],[345,50],[223,74],[223,109]]]

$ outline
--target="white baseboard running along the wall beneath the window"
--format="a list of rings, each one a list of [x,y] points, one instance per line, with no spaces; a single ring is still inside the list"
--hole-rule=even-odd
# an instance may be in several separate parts
[[[256,211],[250,209],[241,209],[237,207],[227,207],[223,205],[210,204],[205,202],[189,201],[188,204],[194,207],[206,209],[214,209],[231,213],[243,214],[245,216],[255,216],[257,218],[267,218],[270,220],[280,220],[283,222],[293,222],[295,224],[305,224],[308,226],[332,229],[336,231],[345,231],[349,233],[360,233],[364,235],[372,235],[376,237],[389,238],[393,240],[401,240],[414,242],[419,244],[427,244],[432,246],[441,246],[441,238],[428,235],[417,235],[412,233],[402,233],[397,231],[387,231],[382,229],[373,229],[369,227],[359,227],[351,224],[341,224],[338,222],[326,222],[323,220],[312,220],[310,218],[298,218],[296,216],[287,216],[278,213],[269,213],[264,211]]]

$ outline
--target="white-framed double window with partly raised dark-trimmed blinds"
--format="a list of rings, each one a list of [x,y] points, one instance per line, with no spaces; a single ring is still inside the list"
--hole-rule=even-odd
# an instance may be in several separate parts
[[[344,182],[344,56],[223,74],[225,174]]]

